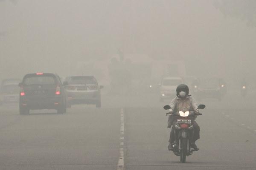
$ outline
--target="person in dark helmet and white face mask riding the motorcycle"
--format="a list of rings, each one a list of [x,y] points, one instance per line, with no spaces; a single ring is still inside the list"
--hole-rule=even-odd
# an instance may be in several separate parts
[[[187,85],[184,85],[184,84],[178,85],[176,89],[176,93],[177,93],[176,94],[177,97],[172,99],[172,102],[170,103],[170,106],[172,109],[169,109],[169,113],[172,114],[172,112],[174,111],[187,110],[187,111],[195,111],[196,115],[199,114],[199,111],[197,110],[198,109],[197,102],[191,95],[189,95],[189,87]],[[173,144],[176,146],[175,136],[174,136],[175,134],[172,127],[172,123],[175,120],[176,118],[174,115],[170,115],[168,118],[168,128],[171,128],[168,150],[173,150],[174,148]],[[199,150],[199,148],[195,144],[195,141],[200,138],[200,135],[199,135],[200,127],[198,126],[197,122],[194,122],[193,127],[194,127],[194,135],[192,136],[191,147],[194,150]]]

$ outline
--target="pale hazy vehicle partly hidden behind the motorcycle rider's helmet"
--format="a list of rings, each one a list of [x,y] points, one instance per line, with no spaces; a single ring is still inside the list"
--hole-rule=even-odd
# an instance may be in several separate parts
[[[183,83],[180,77],[165,77],[160,84],[160,102],[164,99],[172,99],[176,96],[176,88]]]

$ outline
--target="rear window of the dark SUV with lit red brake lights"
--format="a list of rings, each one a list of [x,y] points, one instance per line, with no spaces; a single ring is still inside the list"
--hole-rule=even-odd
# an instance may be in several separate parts
[[[55,85],[55,78],[51,76],[27,77],[24,80],[25,85]]]

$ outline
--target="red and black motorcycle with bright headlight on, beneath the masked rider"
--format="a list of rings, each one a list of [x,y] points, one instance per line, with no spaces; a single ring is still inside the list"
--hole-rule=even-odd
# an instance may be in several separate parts
[[[163,107],[165,110],[171,109],[169,105]],[[199,105],[198,109],[204,109],[205,105]],[[180,162],[186,163],[186,156],[192,155],[195,149],[191,148],[192,136],[193,136],[193,123],[195,121],[195,111],[178,111],[172,114],[166,113],[166,116],[174,115],[177,117],[173,122],[172,128],[174,129],[175,144],[173,153],[176,156],[180,156]],[[201,113],[197,115],[202,115]]]

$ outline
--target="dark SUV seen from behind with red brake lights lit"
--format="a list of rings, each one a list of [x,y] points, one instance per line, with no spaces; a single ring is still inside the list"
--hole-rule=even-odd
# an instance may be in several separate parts
[[[20,114],[29,114],[31,109],[56,109],[57,113],[66,113],[67,95],[58,75],[26,74],[19,86]]]

